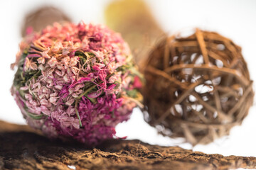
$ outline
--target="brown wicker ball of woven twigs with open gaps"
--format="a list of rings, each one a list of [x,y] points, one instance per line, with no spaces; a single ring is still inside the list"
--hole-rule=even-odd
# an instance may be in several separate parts
[[[248,113],[254,92],[241,48],[196,29],[165,38],[145,64],[144,118],[163,135],[192,145],[228,135]]]

